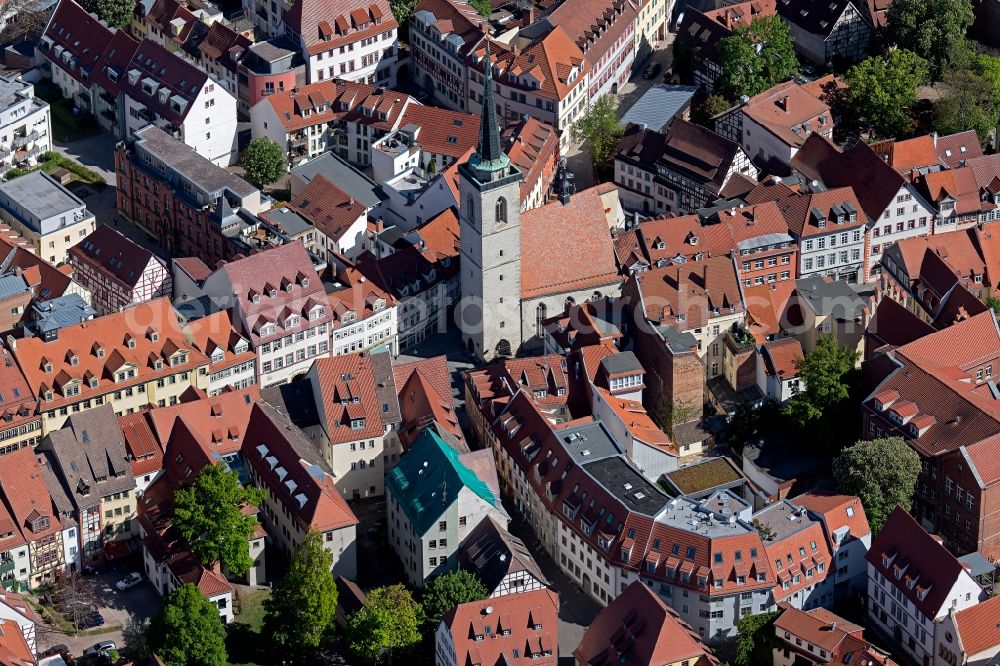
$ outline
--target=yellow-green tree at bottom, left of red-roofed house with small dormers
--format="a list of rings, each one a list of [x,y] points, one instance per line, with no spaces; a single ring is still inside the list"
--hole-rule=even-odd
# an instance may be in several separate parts
[[[374,663],[385,654],[392,656],[416,647],[422,623],[423,611],[409,590],[399,584],[376,588],[348,620],[348,648]]]

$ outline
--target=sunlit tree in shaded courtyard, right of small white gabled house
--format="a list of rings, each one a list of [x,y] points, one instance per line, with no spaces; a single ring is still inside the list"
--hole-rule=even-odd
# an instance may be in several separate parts
[[[848,375],[858,362],[858,352],[837,344],[837,338],[821,335],[816,348],[796,363],[805,390],[795,394],[785,405],[785,415],[800,428],[820,420],[828,409],[847,401],[850,396]]]

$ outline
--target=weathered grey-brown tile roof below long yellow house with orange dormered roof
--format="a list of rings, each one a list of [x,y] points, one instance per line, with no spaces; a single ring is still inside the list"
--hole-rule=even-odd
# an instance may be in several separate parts
[[[73,414],[61,429],[49,433],[40,448],[52,452],[66,491],[80,509],[135,488],[125,439],[111,405]],[[82,492],[84,486],[89,493]]]

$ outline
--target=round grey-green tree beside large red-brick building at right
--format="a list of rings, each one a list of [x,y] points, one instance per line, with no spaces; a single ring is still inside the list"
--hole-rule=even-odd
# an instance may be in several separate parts
[[[877,534],[896,506],[910,510],[920,473],[920,456],[901,437],[860,441],[833,460],[841,492],[857,495]]]

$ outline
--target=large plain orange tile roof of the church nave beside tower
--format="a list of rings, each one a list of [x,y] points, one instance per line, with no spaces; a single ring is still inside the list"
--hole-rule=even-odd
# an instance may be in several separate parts
[[[553,201],[521,213],[521,297],[617,286],[608,222],[617,190],[595,185],[569,203]],[[587,261],[578,261],[587,257]]]

